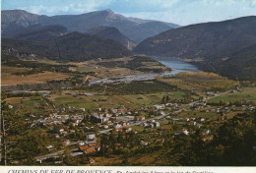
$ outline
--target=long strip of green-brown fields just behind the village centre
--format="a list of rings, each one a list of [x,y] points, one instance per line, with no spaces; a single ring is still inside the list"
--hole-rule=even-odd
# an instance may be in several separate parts
[[[53,94],[50,98],[57,106],[73,106],[76,108],[96,109],[99,106],[102,108],[115,108],[119,105],[125,107],[140,108],[142,106],[152,106],[160,104],[163,95],[166,92],[157,92],[149,94],[123,94],[123,95],[79,95],[74,97],[72,91],[65,91],[61,94]],[[66,94],[69,93],[69,94]],[[180,99],[185,96],[182,91],[168,92],[170,98]]]

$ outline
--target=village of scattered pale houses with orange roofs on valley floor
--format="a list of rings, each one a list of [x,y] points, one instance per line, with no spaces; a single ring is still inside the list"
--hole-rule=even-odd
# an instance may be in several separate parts
[[[149,144],[163,144],[162,134],[172,132],[174,136],[189,136],[194,133],[195,129],[201,129],[205,140],[211,140],[214,130],[212,125],[224,123],[229,118],[227,116],[229,113],[251,112],[256,109],[254,105],[250,104],[213,105],[208,102],[210,98],[234,91],[236,90],[228,90],[223,93],[206,92],[205,98],[188,104],[167,102],[139,109],[119,105],[111,109],[99,107],[94,111],[68,106],[68,108],[56,109],[58,111],[46,117],[41,116],[36,119],[32,115],[33,120],[26,119],[27,122],[31,123],[31,128],[45,129],[39,135],[52,138],[51,141],[54,142],[46,144],[47,153],[36,156],[35,160],[37,164],[62,164],[63,161],[59,158],[65,156],[67,153],[64,151],[68,149],[71,157],[84,155],[88,158],[89,164],[94,164],[96,161],[92,157],[102,151],[100,148],[100,146],[102,147],[102,136],[119,137],[136,134],[144,137],[140,138],[139,145],[147,146]],[[72,95],[77,96],[76,93],[72,93]],[[93,94],[87,93],[87,95],[92,96]],[[49,92],[44,93],[43,97],[49,97]],[[9,104],[9,108],[13,109],[13,105]],[[209,113],[213,113],[215,116],[207,116]],[[145,136],[150,134],[155,135],[152,135],[151,138]],[[122,144],[115,141],[113,145],[116,151],[130,147],[132,144],[131,142]],[[106,147],[110,146],[106,145]]]

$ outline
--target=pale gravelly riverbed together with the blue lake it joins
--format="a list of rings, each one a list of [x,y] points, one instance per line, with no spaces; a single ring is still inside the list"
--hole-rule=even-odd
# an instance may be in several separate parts
[[[170,68],[171,72],[164,72],[161,74],[151,73],[151,74],[141,74],[141,75],[121,75],[115,76],[111,78],[104,78],[95,80],[90,83],[90,85],[96,84],[109,84],[114,82],[120,83],[130,83],[132,81],[148,81],[154,80],[157,76],[166,76],[166,75],[176,75],[180,72],[198,72],[198,68],[192,64],[188,64],[182,60],[175,58],[167,58],[167,57],[153,57],[155,60],[159,61],[164,66]]]

